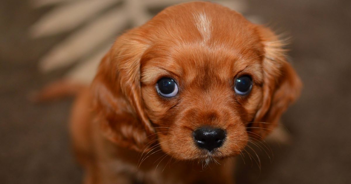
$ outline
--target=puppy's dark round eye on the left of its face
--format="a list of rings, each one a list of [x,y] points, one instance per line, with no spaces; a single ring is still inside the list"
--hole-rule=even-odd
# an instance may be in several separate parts
[[[164,97],[173,97],[178,93],[178,86],[172,78],[161,78],[156,84],[156,89]]]

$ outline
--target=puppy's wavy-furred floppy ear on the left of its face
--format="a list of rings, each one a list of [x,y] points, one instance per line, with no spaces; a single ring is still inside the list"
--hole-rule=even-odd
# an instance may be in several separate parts
[[[153,133],[141,99],[140,58],[147,47],[141,40],[133,30],[120,36],[92,83],[94,112],[103,133],[119,146],[137,151]]]

